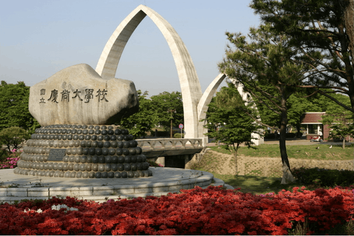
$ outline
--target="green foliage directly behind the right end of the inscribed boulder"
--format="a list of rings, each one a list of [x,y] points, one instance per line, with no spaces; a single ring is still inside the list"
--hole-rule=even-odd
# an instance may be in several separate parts
[[[151,131],[158,122],[158,115],[152,104],[152,100],[147,99],[148,92],[142,93],[137,90],[139,98],[139,111],[132,114],[130,117],[123,117],[120,120],[120,125],[130,131],[135,137],[146,136],[148,131]]]

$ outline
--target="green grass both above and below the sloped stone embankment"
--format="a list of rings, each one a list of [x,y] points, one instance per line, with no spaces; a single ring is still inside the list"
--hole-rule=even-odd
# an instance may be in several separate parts
[[[320,147],[316,149],[316,147]],[[217,146],[210,147],[213,151],[224,154],[232,154],[230,151],[218,148]],[[241,147],[239,155],[245,155],[257,158],[279,158],[280,150],[277,144],[263,144],[255,148]],[[289,158],[297,159],[314,159],[314,160],[353,160],[353,146],[348,146],[345,149],[341,146],[329,145],[299,145],[287,146],[287,155]],[[216,178],[222,179],[226,184],[234,188],[241,188],[243,192],[252,194],[266,194],[270,192],[278,193],[282,189],[292,191],[293,187],[302,187],[302,184],[297,182],[292,184],[280,184],[281,178],[277,177],[258,177],[258,176],[243,176],[243,175],[219,175],[210,171],[211,163],[215,162],[215,157],[205,155],[205,160],[202,160],[198,166],[198,170],[211,172]],[[307,190],[314,190],[316,186],[306,186]]]

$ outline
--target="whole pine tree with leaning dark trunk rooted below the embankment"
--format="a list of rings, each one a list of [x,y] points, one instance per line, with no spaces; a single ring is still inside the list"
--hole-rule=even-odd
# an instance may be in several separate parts
[[[227,33],[227,37],[234,47],[228,47],[226,57],[218,65],[219,70],[242,83],[253,100],[280,116],[280,128],[271,128],[280,131],[282,184],[293,182],[285,144],[287,99],[296,91],[290,85],[303,83],[306,68],[294,61],[297,52],[288,47],[287,37],[275,34],[270,25],[251,28],[248,38],[241,33]]]

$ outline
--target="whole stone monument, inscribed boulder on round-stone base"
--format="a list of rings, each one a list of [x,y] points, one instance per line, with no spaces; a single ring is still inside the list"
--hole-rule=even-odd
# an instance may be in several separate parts
[[[113,125],[137,111],[132,81],[70,66],[30,88],[29,110],[42,126],[27,141],[15,174],[42,177],[149,177],[142,148]]]

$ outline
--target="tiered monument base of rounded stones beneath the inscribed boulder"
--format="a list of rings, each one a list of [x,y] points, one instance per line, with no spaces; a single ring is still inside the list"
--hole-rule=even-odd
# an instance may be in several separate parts
[[[52,153],[61,155],[53,158]],[[15,174],[67,178],[149,177],[147,157],[127,129],[53,124],[35,130]]]

